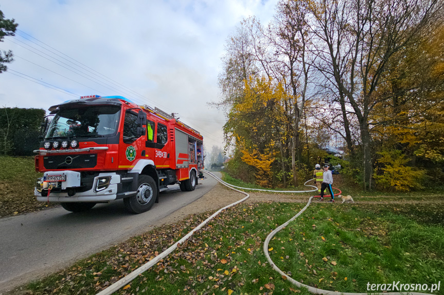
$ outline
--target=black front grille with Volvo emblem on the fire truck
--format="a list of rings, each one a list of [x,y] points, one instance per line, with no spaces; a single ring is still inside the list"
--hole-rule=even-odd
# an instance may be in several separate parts
[[[97,165],[97,154],[51,155],[43,158],[45,169],[93,168]]]

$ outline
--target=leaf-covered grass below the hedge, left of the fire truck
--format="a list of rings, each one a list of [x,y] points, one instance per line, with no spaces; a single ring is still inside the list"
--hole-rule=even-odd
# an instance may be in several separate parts
[[[0,156],[0,167],[0,217],[48,207],[34,197],[35,180],[42,173],[35,172],[32,156]]]

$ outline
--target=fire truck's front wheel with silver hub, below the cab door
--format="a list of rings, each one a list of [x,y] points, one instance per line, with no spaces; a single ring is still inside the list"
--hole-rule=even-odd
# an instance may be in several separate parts
[[[151,176],[139,175],[137,185],[137,194],[130,196],[130,198],[123,199],[125,208],[135,214],[143,213],[151,209],[157,198],[156,182]]]

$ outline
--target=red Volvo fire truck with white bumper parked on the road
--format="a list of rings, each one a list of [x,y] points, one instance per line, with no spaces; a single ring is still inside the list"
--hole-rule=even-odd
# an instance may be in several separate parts
[[[203,137],[173,116],[122,96],[82,96],[49,108],[35,169],[34,194],[68,211],[123,199],[149,210],[159,192],[179,183],[192,191],[203,167]],[[48,121],[46,121],[48,122]]]

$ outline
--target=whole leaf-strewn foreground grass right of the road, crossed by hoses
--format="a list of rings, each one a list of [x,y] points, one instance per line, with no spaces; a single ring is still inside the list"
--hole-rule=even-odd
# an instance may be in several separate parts
[[[303,206],[260,203],[230,208],[117,293],[308,294],[274,272],[262,252],[270,231]],[[30,294],[97,293],[208,215],[157,228],[26,289]],[[316,203],[278,233],[269,250],[291,277],[320,288],[365,292],[367,282],[432,284],[444,279],[443,217],[439,205]],[[443,294],[442,288],[436,294]]]

